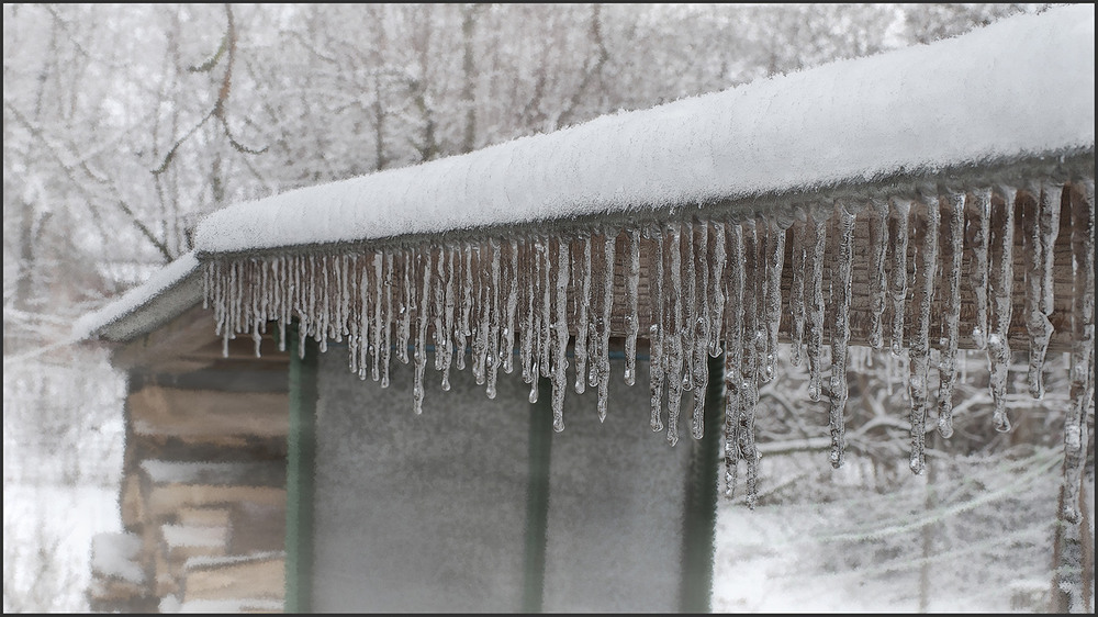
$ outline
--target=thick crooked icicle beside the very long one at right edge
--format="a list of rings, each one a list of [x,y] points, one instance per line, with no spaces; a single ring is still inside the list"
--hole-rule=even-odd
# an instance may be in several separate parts
[[[1026,271],[1026,329],[1030,336],[1029,391],[1034,399],[1044,396],[1044,357],[1052,337],[1049,317],[1053,308],[1052,271],[1054,248],[1060,233],[1060,200],[1053,199],[1052,187],[1047,182],[1034,182],[1030,187],[1037,210],[1026,218],[1026,235],[1029,240],[1029,268]]]

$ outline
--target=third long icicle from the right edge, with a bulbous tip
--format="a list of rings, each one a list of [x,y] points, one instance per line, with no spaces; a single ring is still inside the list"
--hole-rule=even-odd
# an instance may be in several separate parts
[[[1010,430],[1010,419],[1007,417],[1007,373],[1010,370],[1010,301],[1013,291],[1013,235],[1015,235],[1015,198],[1018,191],[1013,187],[996,189],[1002,195],[1002,212],[993,221],[1000,223],[990,225],[989,229],[996,243],[996,258],[991,277],[988,281],[995,298],[995,325],[987,337],[987,357],[991,369],[990,389],[995,401],[991,422],[999,433]]]

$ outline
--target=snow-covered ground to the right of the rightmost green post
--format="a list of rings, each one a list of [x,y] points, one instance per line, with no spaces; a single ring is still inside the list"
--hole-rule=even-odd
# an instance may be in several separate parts
[[[937,487],[832,485],[753,512],[721,500],[713,610],[1045,612],[1061,460],[966,460]]]

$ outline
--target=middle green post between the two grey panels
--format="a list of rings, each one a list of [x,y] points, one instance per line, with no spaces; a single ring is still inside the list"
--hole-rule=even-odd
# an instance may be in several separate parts
[[[530,405],[529,484],[526,489],[526,552],[523,612],[541,613],[549,529],[549,460],[552,446],[552,382],[538,378],[538,402]]]

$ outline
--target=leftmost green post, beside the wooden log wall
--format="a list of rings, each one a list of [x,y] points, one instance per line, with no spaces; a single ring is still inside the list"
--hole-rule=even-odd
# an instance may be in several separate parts
[[[298,324],[290,339],[290,435],[285,475],[285,612],[309,613],[313,591],[313,473],[316,452],[316,341],[305,340]]]

